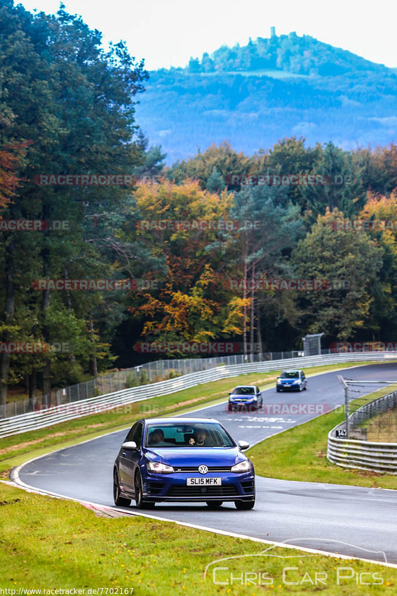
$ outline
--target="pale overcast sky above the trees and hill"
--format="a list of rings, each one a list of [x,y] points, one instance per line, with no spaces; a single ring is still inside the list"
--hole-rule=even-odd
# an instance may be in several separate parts
[[[15,0],[16,2],[17,0]],[[23,0],[28,10],[55,13],[59,0]],[[397,2],[377,0],[64,0],[104,42],[127,42],[148,70],[186,66],[190,56],[248,38],[296,31],[348,49],[368,60],[397,67]]]

